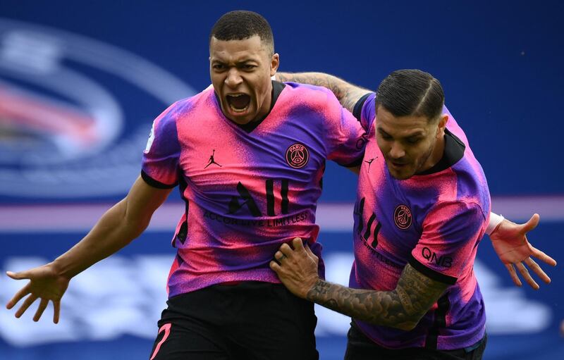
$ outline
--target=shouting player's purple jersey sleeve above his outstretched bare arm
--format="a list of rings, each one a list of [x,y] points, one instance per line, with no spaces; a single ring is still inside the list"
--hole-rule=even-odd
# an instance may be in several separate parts
[[[171,105],[153,122],[147,147],[143,151],[141,176],[147,184],[159,189],[178,185],[180,143],[176,130],[176,108]]]

